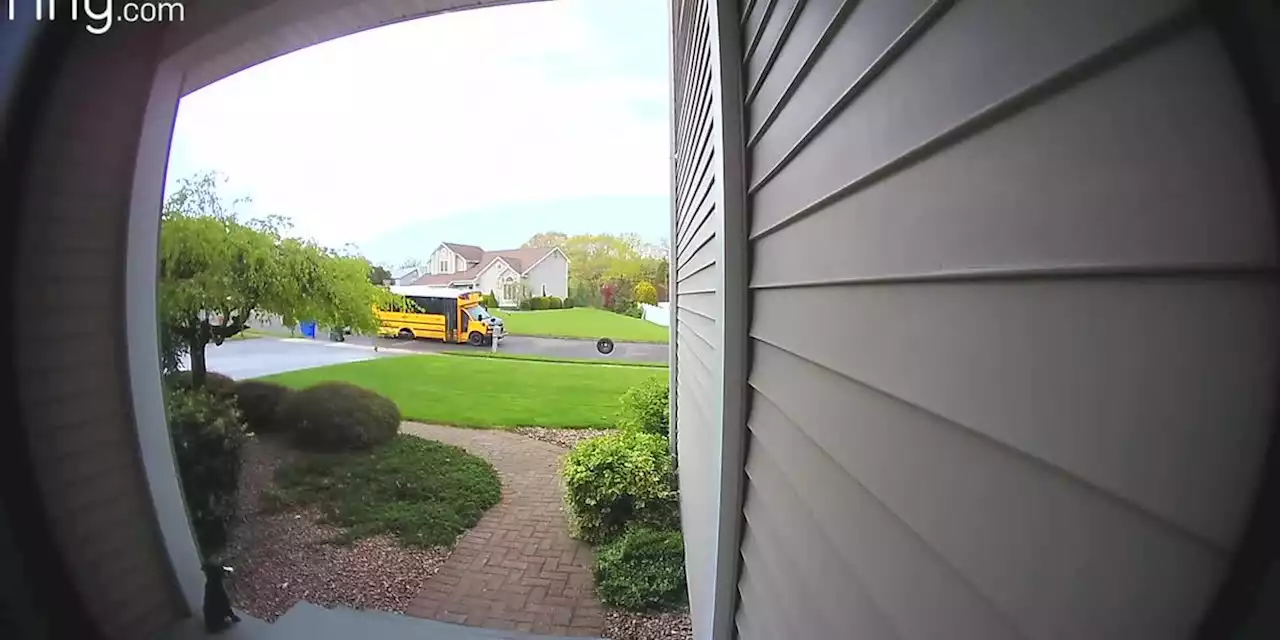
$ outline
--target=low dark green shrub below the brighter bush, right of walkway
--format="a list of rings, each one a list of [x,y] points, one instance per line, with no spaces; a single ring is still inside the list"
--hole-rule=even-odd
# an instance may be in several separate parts
[[[673,609],[689,603],[685,539],[680,531],[627,530],[595,549],[595,591],[628,611]]]

